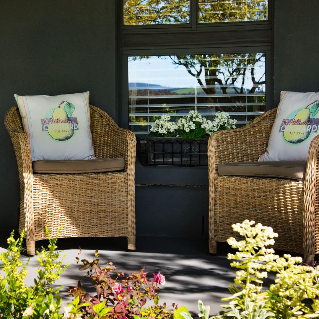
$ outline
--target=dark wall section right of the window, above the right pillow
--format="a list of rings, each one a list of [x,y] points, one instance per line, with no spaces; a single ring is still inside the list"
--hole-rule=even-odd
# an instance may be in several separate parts
[[[319,2],[275,0],[274,106],[280,91],[319,92]]]

